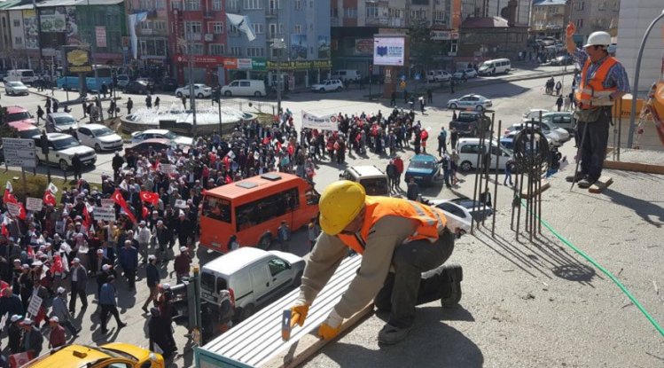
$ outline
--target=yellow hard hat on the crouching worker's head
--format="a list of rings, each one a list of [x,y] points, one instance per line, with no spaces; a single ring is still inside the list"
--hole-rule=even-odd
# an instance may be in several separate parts
[[[349,180],[328,185],[318,202],[324,233],[337,235],[344,230],[362,210],[365,197],[364,187]]]

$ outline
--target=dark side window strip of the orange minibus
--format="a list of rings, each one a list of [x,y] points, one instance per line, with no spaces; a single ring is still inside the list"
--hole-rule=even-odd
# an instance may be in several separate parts
[[[297,188],[238,206],[235,208],[237,231],[286,215],[298,207],[300,207],[300,197]]]

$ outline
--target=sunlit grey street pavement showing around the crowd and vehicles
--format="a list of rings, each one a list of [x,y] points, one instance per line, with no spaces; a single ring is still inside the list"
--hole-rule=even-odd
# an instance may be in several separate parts
[[[528,108],[549,108],[551,109],[554,105],[555,99],[550,96],[543,95],[543,79],[533,79],[533,80],[524,80],[519,82],[505,82],[501,84],[489,85],[478,87],[477,89],[465,88],[464,90],[458,90],[456,94],[452,95],[449,93],[434,93],[434,103],[432,106],[426,107],[425,114],[417,114],[416,119],[422,122],[422,125],[427,129],[431,128],[433,142],[435,142],[435,136],[437,132],[441,129],[442,125],[447,127],[448,122],[451,119],[451,111],[443,108],[445,103],[449,98],[460,97],[466,93],[473,92],[479,93],[491,98],[494,101],[494,109],[496,110],[496,121],[503,121],[503,125],[512,124],[513,122],[520,121],[520,115],[527,110]],[[469,82],[470,85],[470,82]],[[566,79],[566,87],[569,84]],[[57,98],[63,98],[61,96],[64,92],[56,91]],[[312,94],[312,93],[299,93],[293,94],[290,99],[285,100],[283,106],[289,108],[296,116],[295,121],[299,121],[297,118],[302,110],[306,110],[314,114],[333,114],[333,113],[344,113],[344,114],[361,114],[365,113],[376,113],[378,110],[382,110],[384,113],[389,110],[387,106],[387,100],[381,100],[378,102],[368,101],[362,96],[366,94],[366,90],[349,90],[340,93],[329,93],[329,94]],[[122,98],[126,96],[121,95]],[[170,101],[177,103],[176,98],[172,96],[160,95],[162,100],[162,105],[167,105]],[[2,105],[20,105],[26,107],[28,110],[34,112],[36,110],[36,105],[43,102],[42,97],[36,95],[30,95],[28,97],[2,97]],[[132,98],[137,101],[137,106],[143,105],[142,99],[140,97]],[[209,102],[202,102],[209,103]],[[230,102],[225,102],[225,104],[230,104]],[[402,104],[400,104],[402,107]],[[81,119],[82,118],[82,109],[80,106],[74,107],[74,116]],[[80,124],[85,123],[85,121],[80,121]],[[435,146],[435,143],[432,145],[432,149]],[[568,157],[573,156],[573,151],[571,147],[567,145],[563,147],[564,154]],[[91,182],[98,182],[100,175],[102,173],[111,173],[110,161],[113,153],[105,153],[98,155],[98,164],[95,168],[85,173],[85,177]],[[404,152],[402,156],[404,161],[407,162],[408,158],[412,155],[412,152]],[[348,165],[355,164],[375,164],[380,168],[384,168],[387,165],[386,157],[377,157],[373,154],[369,154],[368,158],[356,158],[353,155],[348,156]],[[341,168],[344,168],[346,165],[332,165],[328,163],[321,164],[317,170],[316,175],[316,189],[322,191],[325,185],[330,184],[332,181],[338,178],[338,173]],[[40,172],[43,172],[43,168],[39,168]],[[402,189],[405,189],[402,188]],[[454,190],[441,189],[440,186],[433,186],[423,189],[423,195],[429,197],[441,197],[441,198],[451,198],[456,196],[457,193],[462,193],[465,195],[472,195],[473,193],[473,176],[465,176],[465,181],[462,182]],[[511,199],[512,192],[508,188],[499,186],[499,198],[498,203],[505,204]],[[504,206],[504,205],[503,205]],[[468,242],[468,241],[466,241]],[[309,249],[307,247],[307,241],[305,239],[305,234],[302,231],[296,232],[294,234],[291,249],[293,253],[296,254],[306,254]],[[214,259],[218,254],[207,252],[206,250],[197,249],[197,260],[195,262],[205,263],[211,259]],[[171,283],[175,283],[175,275],[173,274],[172,265],[166,263],[162,265],[161,269],[162,278],[164,281],[170,280]],[[147,319],[143,315],[143,312],[140,309],[140,305],[145,300],[147,295],[147,286],[145,285],[145,268],[141,267],[138,271],[137,281],[137,292],[129,293],[127,291],[127,286],[124,280],[119,280],[117,282],[118,289],[120,290],[119,304],[121,309],[121,319],[129,324],[128,327],[118,331],[115,327],[114,322],[110,322],[111,333],[106,336],[102,336],[99,332],[98,317],[90,316],[91,312],[96,309],[96,304],[91,303],[90,308],[84,313],[77,316],[77,321],[82,324],[83,331],[77,339],[76,343],[103,343],[104,341],[125,341],[129,343],[134,343],[141,346],[146,346],[147,339],[145,338],[147,333]],[[90,283],[89,285],[89,294],[95,292],[95,288]],[[90,301],[92,296],[89,296]],[[176,326],[176,342],[179,348],[180,355],[176,357],[171,366],[178,367],[189,367],[192,366],[192,354],[191,354],[191,341],[188,341],[184,334],[186,329],[181,326]],[[372,337],[375,338],[375,335]],[[185,354],[183,355],[183,351]],[[324,364],[325,366],[327,364]],[[341,364],[344,365],[344,364]],[[426,365],[426,364],[425,364]],[[463,364],[462,364],[463,365]],[[316,364],[312,365],[316,366]]]

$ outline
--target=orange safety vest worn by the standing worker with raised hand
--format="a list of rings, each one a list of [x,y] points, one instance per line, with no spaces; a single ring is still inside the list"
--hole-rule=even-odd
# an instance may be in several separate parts
[[[590,58],[586,59],[586,63],[583,65],[581,71],[579,88],[574,94],[574,99],[581,109],[586,110],[598,106],[613,106],[613,101],[609,99],[609,96],[618,89],[616,87],[605,88],[602,83],[605,81],[606,75],[609,74],[611,67],[617,62],[617,59],[607,56],[595,71],[595,74],[591,75],[590,81],[586,83],[586,76],[590,68]],[[599,99],[593,100],[593,98]]]

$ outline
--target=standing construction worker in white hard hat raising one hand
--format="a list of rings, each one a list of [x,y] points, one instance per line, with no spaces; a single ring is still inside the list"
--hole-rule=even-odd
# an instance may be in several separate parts
[[[613,101],[629,93],[629,79],[621,63],[609,56],[611,35],[593,32],[583,49],[576,47],[576,27],[569,22],[566,46],[574,60],[582,66],[581,82],[574,95],[577,111],[574,113],[577,133],[581,137],[581,170],[567,181],[578,182],[580,188],[589,188],[602,175],[609,138]]]

